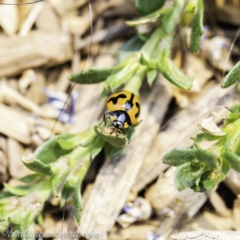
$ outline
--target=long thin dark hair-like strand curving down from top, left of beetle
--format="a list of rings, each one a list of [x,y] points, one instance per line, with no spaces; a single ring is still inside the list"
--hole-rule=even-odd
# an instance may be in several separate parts
[[[84,70],[85,68],[85,65],[86,65],[86,62],[88,61],[89,57],[90,57],[90,54],[91,54],[91,48],[92,48],[92,36],[93,36],[93,17],[92,17],[92,4],[91,4],[91,0],[88,0],[88,8],[89,8],[89,21],[90,21],[90,34],[91,34],[91,38],[90,38],[90,43],[89,43],[89,47],[88,47],[88,53],[87,53],[87,57],[85,58],[84,60],[84,63],[83,63],[83,66],[82,66],[82,69],[80,71],[80,73]],[[80,76],[81,77],[81,76]],[[50,133],[50,136],[49,138],[53,135],[53,131],[57,125],[57,122],[58,120],[60,119],[61,115],[62,115],[62,112],[64,110],[64,108],[66,107],[66,104],[67,104],[67,101],[69,100],[70,96],[71,96],[71,92],[73,90],[73,88],[75,87],[76,83],[72,84],[69,91],[68,91],[68,96],[67,96],[67,99],[66,101],[64,102],[64,105],[62,107],[62,110],[61,112],[59,113],[56,121],[54,122],[54,125],[52,127],[52,131]]]

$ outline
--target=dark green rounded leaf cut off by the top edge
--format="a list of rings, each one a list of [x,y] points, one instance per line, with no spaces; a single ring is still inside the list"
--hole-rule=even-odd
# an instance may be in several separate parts
[[[137,10],[146,15],[161,8],[166,0],[135,0]]]

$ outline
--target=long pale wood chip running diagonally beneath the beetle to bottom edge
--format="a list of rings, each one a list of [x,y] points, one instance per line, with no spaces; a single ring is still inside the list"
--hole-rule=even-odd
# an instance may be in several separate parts
[[[141,118],[144,121],[137,128],[131,144],[122,156],[106,161],[97,176],[83,209],[84,221],[79,226],[80,233],[97,231],[100,233],[99,239],[107,239],[107,232],[111,230],[128,197],[170,99],[159,83],[148,93],[141,106]]]

